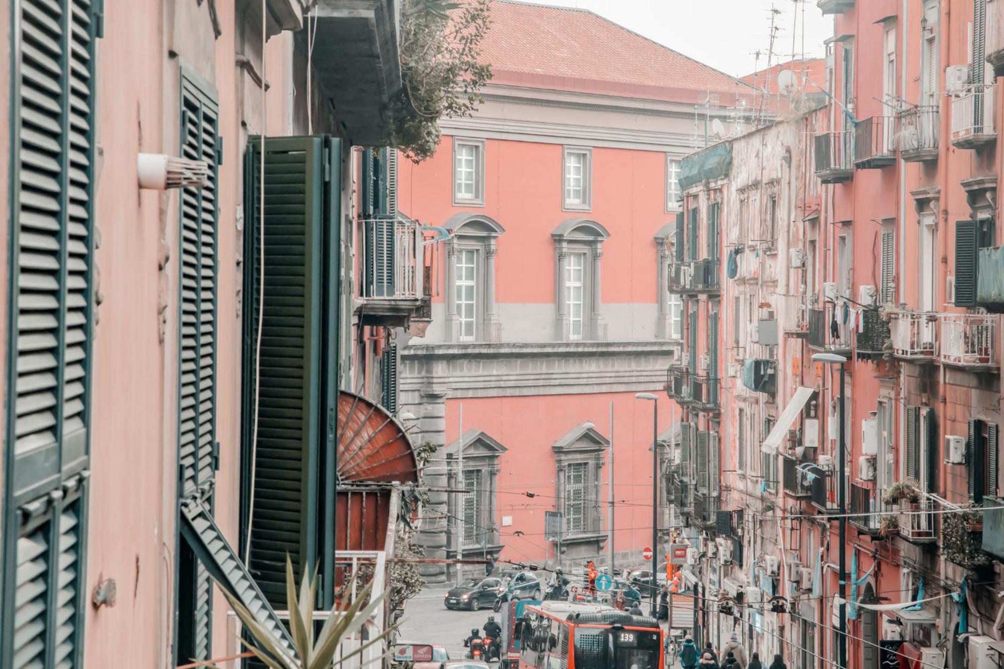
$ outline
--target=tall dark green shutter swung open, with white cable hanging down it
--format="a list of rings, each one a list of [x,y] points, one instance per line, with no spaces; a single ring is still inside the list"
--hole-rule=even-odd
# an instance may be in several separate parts
[[[254,431],[254,342],[261,321],[258,442],[249,568],[275,607],[285,608],[285,561],[312,571],[322,555],[324,592],[332,598],[333,458],[337,403],[338,221],[340,143],[322,137],[265,140],[264,239],[258,180],[261,140],[248,143],[250,175],[245,258],[244,518],[250,504]],[[258,311],[260,249],[264,311]],[[323,447],[322,447],[323,446]],[[322,533],[318,535],[318,526]],[[243,529],[246,532],[247,528]],[[243,544],[242,544],[243,545]]]

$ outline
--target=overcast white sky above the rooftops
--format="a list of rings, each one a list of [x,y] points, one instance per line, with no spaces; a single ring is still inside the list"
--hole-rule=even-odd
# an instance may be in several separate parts
[[[749,74],[758,68],[754,54],[757,49],[762,51],[759,67],[766,66],[771,7],[780,10],[775,18],[778,30],[774,40],[774,64],[791,58],[793,34],[796,53],[802,51],[804,34],[806,56],[822,56],[822,42],[833,32],[833,18],[824,17],[815,0],[528,1],[592,10],[734,76]]]

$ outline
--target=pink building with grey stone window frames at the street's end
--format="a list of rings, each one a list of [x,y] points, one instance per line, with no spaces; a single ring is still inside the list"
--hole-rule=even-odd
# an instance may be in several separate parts
[[[401,164],[402,209],[451,234],[433,323],[401,348],[402,409],[446,447],[437,480],[471,490],[433,493],[447,514],[425,541],[554,564],[556,510],[564,566],[640,565],[653,407],[634,394],[661,390],[680,355],[665,271],[680,159],[706,114],[728,124],[754,91],[588,11],[505,0],[484,59],[484,105],[443,120],[434,158]],[[664,438],[678,418],[659,404]]]

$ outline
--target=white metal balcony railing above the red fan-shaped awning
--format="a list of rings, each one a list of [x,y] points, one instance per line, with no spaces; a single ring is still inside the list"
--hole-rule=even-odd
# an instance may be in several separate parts
[[[362,296],[422,297],[422,225],[411,219],[367,219],[362,233]]]

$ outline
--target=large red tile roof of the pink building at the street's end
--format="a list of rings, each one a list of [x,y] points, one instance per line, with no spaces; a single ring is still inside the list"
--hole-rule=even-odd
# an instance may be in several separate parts
[[[492,0],[482,46],[493,83],[679,101],[703,100],[708,91],[754,92],[585,9]]]

